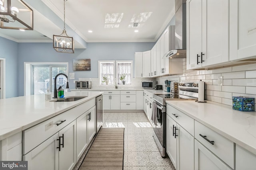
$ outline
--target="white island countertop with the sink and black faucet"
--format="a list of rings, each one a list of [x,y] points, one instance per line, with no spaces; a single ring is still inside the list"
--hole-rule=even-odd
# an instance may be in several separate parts
[[[0,100],[0,141],[55,115],[78,106],[102,92],[65,92],[68,96],[88,96],[74,102],[49,102],[44,94]]]

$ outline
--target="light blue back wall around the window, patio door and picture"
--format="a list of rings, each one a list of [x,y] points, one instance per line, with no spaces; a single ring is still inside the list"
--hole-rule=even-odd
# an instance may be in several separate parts
[[[74,54],[57,53],[52,43],[18,43],[18,96],[24,95],[24,62],[68,62],[78,78],[98,78],[99,60],[133,60],[134,53],[151,50],[155,43],[87,43]],[[73,71],[73,59],[91,59],[91,71]],[[75,88],[70,81],[70,88]]]

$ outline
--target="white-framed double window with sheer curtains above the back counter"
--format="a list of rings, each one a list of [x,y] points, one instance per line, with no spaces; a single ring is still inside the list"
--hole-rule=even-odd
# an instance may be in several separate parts
[[[132,61],[99,61],[98,64],[100,85],[132,85]]]

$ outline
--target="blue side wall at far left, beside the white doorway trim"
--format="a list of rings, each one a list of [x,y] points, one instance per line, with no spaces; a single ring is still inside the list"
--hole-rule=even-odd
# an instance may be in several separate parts
[[[6,61],[6,98],[18,96],[18,43],[0,37],[0,58]],[[23,73],[24,71],[22,71]],[[23,84],[22,84],[23,86]]]

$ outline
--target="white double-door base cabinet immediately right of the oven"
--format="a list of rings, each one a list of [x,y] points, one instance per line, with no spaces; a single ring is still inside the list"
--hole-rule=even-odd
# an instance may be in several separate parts
[[[176,170],[194,170],[194,137],[166,115],[166,152]]]

